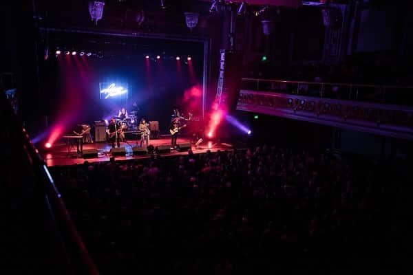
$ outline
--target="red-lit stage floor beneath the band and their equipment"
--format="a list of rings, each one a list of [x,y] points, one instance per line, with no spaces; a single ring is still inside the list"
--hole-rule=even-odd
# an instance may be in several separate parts
[[[189,137],[178,137],[177,144],[191,143]],[[138,140],[140,144],[140,140]],[[136,140],[127,140],[127,142],[120,142],[120,147],[124,147],[126,151],[125,156],[116,156],[116,160],[125,160],[125,159],[142,159],[148,158],[150,155],[133,155],[133,147],[138,146]],[[156,140],[150,140],[149,144],[153,147],[161,145],[171,145],[170,135],[161,136]],[[83,158],[82,155],[76,153],[76,146],[71,148],[70,152],[67,149],[67,144],[65,142],[60,142],[54,144],[54,146],[47,152],[41,152],[43,159],[45,160],[47,166],[65,166],[72,164],[83,164],[85,160],[87,162],[107,162],[109,161],[110,149],[112,148],[111,144],[107,142],[94,142],[83,144],[83,151],[88,149],[96,149],[98,151],[98,157],[94,158]],[[211,152],[216,152],[218,150],[225,151],[231,150],[233,148],[232,144],[229,143],[215,143],[213,141],[202,142],[198,148],[195,148],[194,144],[191,144],[193,153],[206,153],[208,150]],[[187,155],[187,151],[180,152],[178,150],[171,150],[171,153],[162,153],[160,155],[171,156],[171,155]]]

